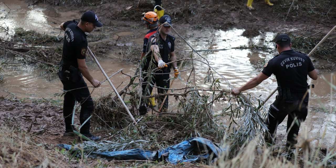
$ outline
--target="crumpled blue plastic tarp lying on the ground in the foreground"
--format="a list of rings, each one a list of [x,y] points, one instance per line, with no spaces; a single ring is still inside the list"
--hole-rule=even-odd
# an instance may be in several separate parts
[[[58,146],[71,150],[71,145],[59,144]],[[212,161],[214,158],[222,155],[227,150],[221,146],[217,146],[210,140],[193,137],[182,141],[176,145],[169,146],[163,151],[145,151],[140,148],[114,151],[114,152],[91,152],[88,157],[106,158],[108,160],[165,160],[167,162],[177,164],[181,162],[198,162],[201,160]],[[193,155],[193,154],[198,155]]]

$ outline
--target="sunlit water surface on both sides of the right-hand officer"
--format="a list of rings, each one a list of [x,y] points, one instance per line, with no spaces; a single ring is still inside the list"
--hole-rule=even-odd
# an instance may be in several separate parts
[[[230,47],[240,47],[244,46],[247,43],[253,45],[266,45],[268,48],[274,48],[272,40],[274,39],[274,33],[265,33],[263,35],[257,36],[255,38],[249,39],[240,34],[243,30],[229,30],[227,32],[218,31],[216,36],[210,36],[213,43],[216,45],[210,45],[209,48],[230,48]],[[204,36],[204,32],[193,32],[194,34],[200,34],[200,37]],[[203,33],[203,34],[202,34]],[[209,44],[204,40],[199,40],[200,37],[192,36],[190,43],[193,43],[195,49],[205,49]],[[210,66],[213,67],[218,73],[223,75],[234,87],[239,87],[257,74],[259,74],[263,68],[265,61],[271,59],[274,55],[278,54],[276,51],[273,54],[263,53],[255,50],[248,49],[236,49],[236,50],[223,50],[218,52],[207,52],[203,53],[210,62]],[[207,66],[201,63],[196,63],[200,71],[207,69]],[[200,75],[204,75],[203,71]],[[215,75],[215,78],[219,78],[218,75]],[[308,80],[309,84],[314,84],[315,88],[312,89],[312,98],[311,105],[314,107],[324,107],[326,112],[316,112],[321,111],[320,109],[312,111],[308,116],[309,121],[304,122],[301,128],[308,128],[310,138],[314,137],[312,143],[317,143],[318,141],[322,142],[326,146],[332,146],[335,143],[335,89],[333,89],[326,80],[329,79],[329,82],[333,85],[336,85],[335,75],[334,74],[323,74],[320,75],[318,80],[313,81]],[[252,93],[254,95],[261,95],[262,99],[265,99],[271,91],[277,88],[277,83],[275,76],[272,75],[257,87],[250,89],[246,92]],[[271,104],[275,100],[275,95],[273,95],[266,104]],[[220,109],[220,108],[219,108]],[[216,107],[214,107],[216,111]],[[331,114],[332,113],[332,114]],[[284,122],[279,125],[278,133],[286,135],[286,125],[287,118]],[[299,136],[304,133],[304,129],[301,129]],[[324,137],[322,139],[322,137]],[[299,144],[302,143],[299,141]]]

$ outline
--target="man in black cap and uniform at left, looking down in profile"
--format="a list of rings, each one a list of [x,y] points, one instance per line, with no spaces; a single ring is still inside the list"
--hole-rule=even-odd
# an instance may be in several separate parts
[[[91,116],[93,100],[83,76],[97,88],[98,80],[93,79],[85,64],[87,40],[85,32],[90,33],[94,28],[101,27],[97,15],[92,11],[85,12],[79,23],[76,20],[64,22],[60,28],[65,31],[62,51],[62,59],[58,71],[58,77],[66,91],[64,95],[63,116],[65,121],[65,133],[63,136],[74,136],[75,128],[71,125],[72,112],[77,100],[81,104],[79,120],[81,125]],[[91,140],[99,140],[99,136],[90,133],[90,120],[81,128],[80,133]]]

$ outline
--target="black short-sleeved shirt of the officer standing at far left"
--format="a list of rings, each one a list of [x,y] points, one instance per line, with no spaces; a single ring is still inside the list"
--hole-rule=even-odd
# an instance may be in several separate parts
[[[65,28],[61,66],[78,68],[77,59],[85,59],[87,49],[86,34],[80,29],[76,20],[63,24]]]

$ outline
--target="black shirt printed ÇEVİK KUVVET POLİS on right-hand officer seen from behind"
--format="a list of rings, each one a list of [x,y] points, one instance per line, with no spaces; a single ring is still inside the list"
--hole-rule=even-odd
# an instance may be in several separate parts
[[[290,88],[291,92],[305,92],[308,72],[313,70],[308,55],[290,49],[270,59],[262,73],[267,76],[274,74],[281,88]]]

